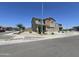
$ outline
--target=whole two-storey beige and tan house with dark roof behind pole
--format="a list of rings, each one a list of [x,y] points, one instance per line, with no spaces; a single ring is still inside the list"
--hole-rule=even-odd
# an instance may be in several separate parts
[[[45,19],[32,18],[32,30],[35,32],[39,31],[38,26],[41,25],[40,29],[45,30],[45,32],[58,32],[62,28],[62,24],[56,23],[56,20],[48,17]],[[44,27],[44,28],[43,28]]]

